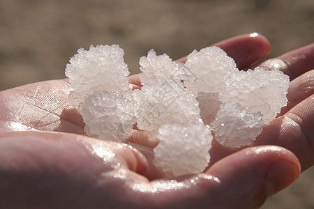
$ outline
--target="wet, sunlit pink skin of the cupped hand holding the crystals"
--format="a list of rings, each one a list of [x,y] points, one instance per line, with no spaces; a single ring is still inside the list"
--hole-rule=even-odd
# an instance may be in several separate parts
[[[257,33],[215,45],[244,70],[269,53],[269,42]],[[68,80],[1,91],[0,208],[261,206],[314,163],[314,44],[257,65],[290,76],[287,107],[253,146],[234,149],[214,141],[203,173],[175,178],[151,164],[156,141],[147,141],[144,132],[128,144],[85,136],[82,117],[68,102]],[[129,80],[140,88],[138,75]]]

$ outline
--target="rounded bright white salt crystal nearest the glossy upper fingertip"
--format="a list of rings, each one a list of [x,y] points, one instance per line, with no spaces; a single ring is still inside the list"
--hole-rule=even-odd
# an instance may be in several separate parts
[[[185,66],[190,75],[184,79],[184,85],[195,95],[220,92],[225,87],[225,78],[237,68],[234,60],[219,47],[194,50],[188,55]]]

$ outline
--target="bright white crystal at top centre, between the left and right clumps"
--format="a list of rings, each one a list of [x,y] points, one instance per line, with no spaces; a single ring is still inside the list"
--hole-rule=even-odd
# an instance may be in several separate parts
[[[167,54],[156,55],[151,49],[147,56],[140,58],[140,80],[143,85],[162,84],[164,82],[180,82],[179,64],[172,61]]]

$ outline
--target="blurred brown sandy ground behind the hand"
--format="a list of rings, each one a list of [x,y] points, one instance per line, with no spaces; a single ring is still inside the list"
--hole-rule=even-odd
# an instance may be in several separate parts
[[[178,59],[241,33],[278,56],[314,42],[313,0],[0,0],[0,90],[64,78],[77,49],[119,44],[130,71],[151,48]],[[314,208],[314,169],[262,207]]]

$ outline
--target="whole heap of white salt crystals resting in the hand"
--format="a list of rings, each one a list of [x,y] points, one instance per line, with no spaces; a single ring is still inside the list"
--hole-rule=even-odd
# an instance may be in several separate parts
[[[282,72],[239,71],[218,47],[193,51],[186,63],[149,51],[140,59],[145,85],[135,91],[128,91],[129,72],[118,45],[78,52],[66,75],[70,102],[81,110],[87,134],[124,141],[137,123],[160,140],[155,164],[174,175],[207,166],[212,139],[207,125],[221,144],[245,146],[262,132],[262,118],[268,123],[287,102],[289,78]]]

